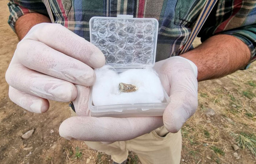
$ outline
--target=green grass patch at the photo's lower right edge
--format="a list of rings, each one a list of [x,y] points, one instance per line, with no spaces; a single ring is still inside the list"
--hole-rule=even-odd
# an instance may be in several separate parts
[[[254,134],[248,134],[241,132],[237,134],[238,143],[242,146],[242,148],[248,148],[253,155],[256,156],[256,136]]]

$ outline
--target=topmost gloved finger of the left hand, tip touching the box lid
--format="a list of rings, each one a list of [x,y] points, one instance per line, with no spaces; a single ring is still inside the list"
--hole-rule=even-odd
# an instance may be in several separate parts
[[[90,67],[98,68],[105,64],[105,56],[93,44],[61,24],[40,23],[35,25],[24,39],[37,40]]]

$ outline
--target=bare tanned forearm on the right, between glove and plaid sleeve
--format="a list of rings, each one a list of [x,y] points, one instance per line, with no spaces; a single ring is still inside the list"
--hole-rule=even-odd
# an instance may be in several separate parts
[[[251,52],[244,42],[230,35],[215,35],[181,55],[194,62],[198,81],[223,77],[248,63]]]

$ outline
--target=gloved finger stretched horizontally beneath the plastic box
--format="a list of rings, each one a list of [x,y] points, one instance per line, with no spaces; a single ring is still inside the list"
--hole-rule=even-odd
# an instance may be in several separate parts
[[[82,141],[126,141],[163,125],[162,117],[70,117],[59,128],[60,136]]]

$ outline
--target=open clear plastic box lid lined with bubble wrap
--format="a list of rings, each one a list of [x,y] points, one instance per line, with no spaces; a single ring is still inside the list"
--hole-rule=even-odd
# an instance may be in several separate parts
[[[90,19],[90,42],[114,68],[146,68],[155,65],[158,21],[132,15]]]

